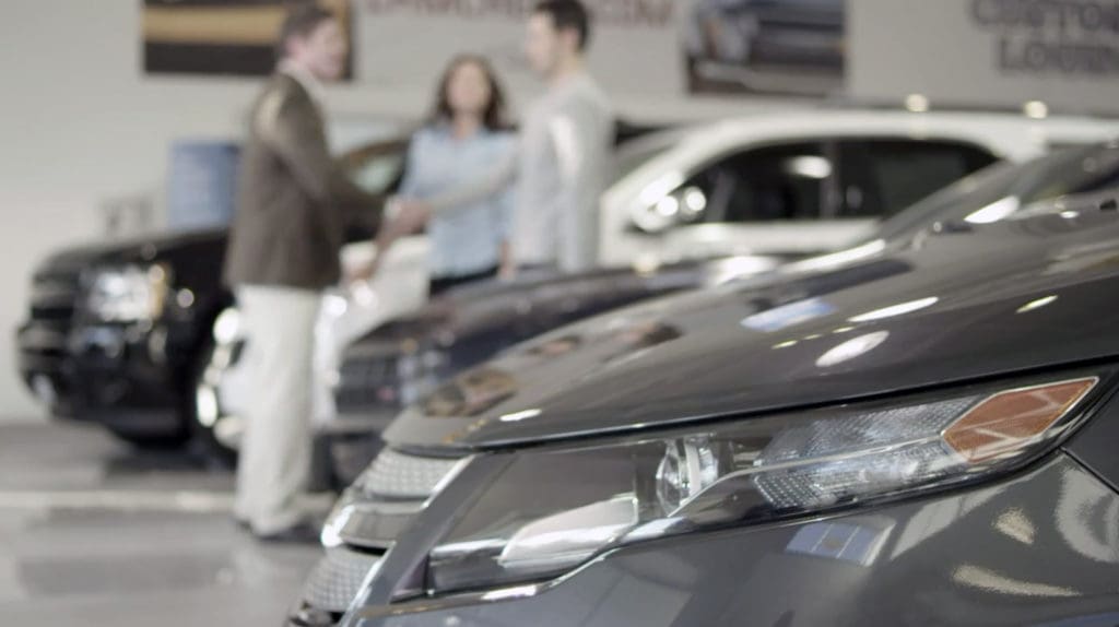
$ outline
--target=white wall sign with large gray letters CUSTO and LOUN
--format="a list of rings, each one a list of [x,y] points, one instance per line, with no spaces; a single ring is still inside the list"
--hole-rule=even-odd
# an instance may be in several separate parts
[[[1119,0],[849,0],[849,96],[1119,114]]]

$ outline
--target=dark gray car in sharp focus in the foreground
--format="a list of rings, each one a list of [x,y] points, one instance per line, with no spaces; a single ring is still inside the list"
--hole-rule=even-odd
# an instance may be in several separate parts
[[[338,504],[295,623],[1115,625],[1117,196],[944,218],[458,377]]]

